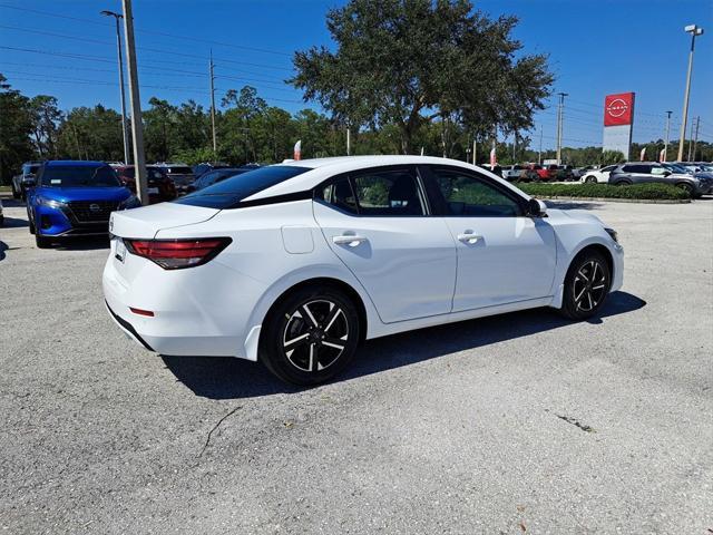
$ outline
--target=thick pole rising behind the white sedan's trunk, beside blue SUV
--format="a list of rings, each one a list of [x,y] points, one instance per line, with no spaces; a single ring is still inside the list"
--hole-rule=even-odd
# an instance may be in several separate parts
[[[126,61],[129,71],[129,97],[131,101],[131,135],[134,138],[134,166],[136,193],[141,204],[148,204],[146,159],[144,155],[144,124],[141,121],[141,98],[138,93],[138,69],[136,68],[136,43],[134,42],[134,16],[131,0],[121,0],[124,6],[124,35],[126,36]]]

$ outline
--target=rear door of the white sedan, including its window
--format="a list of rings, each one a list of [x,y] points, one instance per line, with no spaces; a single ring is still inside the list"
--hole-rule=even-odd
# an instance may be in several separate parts
[[[384,323],[450,312],[456,246],[430,214],[416,166],[329,181],[315,192],[314,217]]]

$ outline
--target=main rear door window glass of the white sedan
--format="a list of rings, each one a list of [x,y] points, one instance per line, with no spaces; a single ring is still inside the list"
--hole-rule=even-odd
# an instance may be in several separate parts
[[[424,215],[426,203],[412,169],[360,173],[352,186],[361,215]]]

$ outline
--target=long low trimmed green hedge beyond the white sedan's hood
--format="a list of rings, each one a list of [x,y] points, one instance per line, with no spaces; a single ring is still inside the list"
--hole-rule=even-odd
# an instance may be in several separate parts
[[[631,186],[609,186],[608,184],[517,184],[528,195],[535,197],[603,197],[670,200],[690,198],[683,189],[668,184],[634,184]]]

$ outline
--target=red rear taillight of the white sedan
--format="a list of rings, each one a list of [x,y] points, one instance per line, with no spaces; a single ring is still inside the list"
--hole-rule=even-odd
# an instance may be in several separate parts
[[[155,262],[164,270],[180,270],[205,264],[232,242],[229,237],[193,240],[124,240],[126,249]]]

